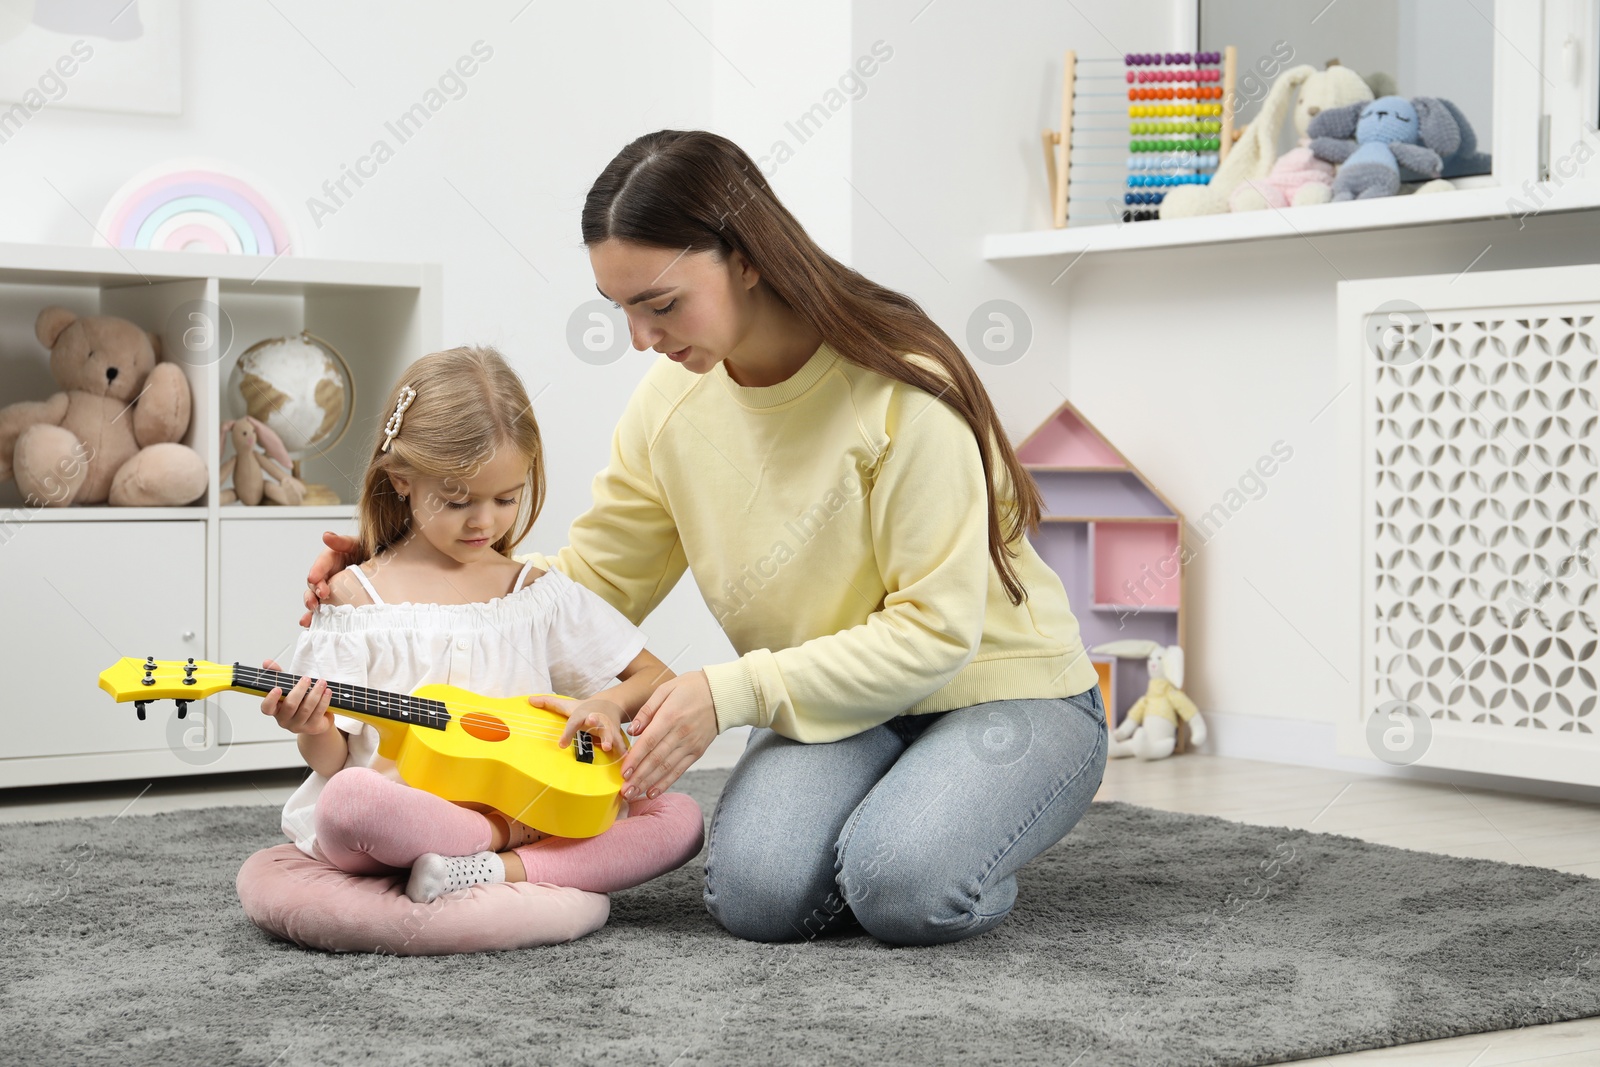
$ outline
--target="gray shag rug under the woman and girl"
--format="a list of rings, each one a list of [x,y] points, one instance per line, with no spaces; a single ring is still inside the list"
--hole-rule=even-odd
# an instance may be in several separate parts
[[[702,854],[566,945],[309,952],[234,893],[277,808],[110,822],[0,825],[0,1062],[1187,1067],[1600,1014],[1597,880],[1125,803],[930,949],[739,941]]]

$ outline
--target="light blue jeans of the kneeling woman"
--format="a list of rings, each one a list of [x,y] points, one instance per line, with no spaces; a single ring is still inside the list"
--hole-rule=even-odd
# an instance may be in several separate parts
[[[712,814],[706,907],[752,941],[981,934],[1016,904],[1018,869],[1077,825],[1106,747],[1099,686],[827,744],[752,729]]]

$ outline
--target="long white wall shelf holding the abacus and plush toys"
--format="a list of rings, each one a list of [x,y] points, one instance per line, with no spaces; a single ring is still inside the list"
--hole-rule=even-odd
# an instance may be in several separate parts
[[[1515,205],[1518,200],[1531,206],[1528,194],[1496,186],[1422,197],[1320,203],[1306,208],[1283,208],[1282,211],[1242,211],[1238,214],[1203,214],[1190,219],[1107,222],[1061,230],[989,234],[984,237],[984,259],[1037,259],[1136,248],[1230,245],[1283,237],[1355,234],[1470,219],[1515,218],[1523,213],[1523,208]],[[1539,208],[1539,214],[1594,211],[1597,208],[1600,208],[1600,182],[1568,182],[1560,189],[1546,190],[1546,203]]]

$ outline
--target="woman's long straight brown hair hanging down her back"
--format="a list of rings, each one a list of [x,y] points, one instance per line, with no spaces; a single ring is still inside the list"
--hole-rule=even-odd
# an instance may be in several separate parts
[[[766,178],[744,150],[702,130],[659,130],[618,152],[589,189],[582,214],[584,245],[616,238],[656,248],[738,250],[762,282],[811,323],[845,360],[915,386],[955,408],[978,438],[989,499],[989,558],[1006,597],[1021,603],[1011,545],[1038,530],[1043,501],[1006,440],[978,373],[922,307],[822,251],[778,202]],[[949,378],[906,355],[926,355]],[[1000,515],[995,454],[1016,494]]]

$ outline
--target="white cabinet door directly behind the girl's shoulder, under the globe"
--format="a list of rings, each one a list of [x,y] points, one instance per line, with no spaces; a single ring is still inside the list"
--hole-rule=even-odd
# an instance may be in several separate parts
[[[259,667],[275,659],[288,667],[299,638],[306,571],[322,552],[322,533],[355,533],[350,518],[229,518],[221,522],[221,625],[218,661]],[[275,720],[261,713],[261,697],[218,694],[221,744],[285,741]]]

